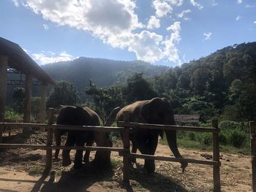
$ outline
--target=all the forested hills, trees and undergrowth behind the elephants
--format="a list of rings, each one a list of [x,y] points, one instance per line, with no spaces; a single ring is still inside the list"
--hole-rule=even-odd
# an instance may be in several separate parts
[[[83,103],[96,110],[104,121],[114,107],[154,96],[165,97],[175,114],[200,115],[202,126],[209,126],[212,118],[221,120],[223,149],[246,148],[249,125],[245,122],[256,120],[255,50],[256,42],[233,45],[173,68],[143,61],[97,58],[45,65],[43,69],[53,79],[73,83],[59,82],[47,104],[58,107]],[[22,89],[12,94],[17,111],[22,108],[22,98]],[[208,147],[212,140],[211,134],[179,131],[178,142],[184,146]]]

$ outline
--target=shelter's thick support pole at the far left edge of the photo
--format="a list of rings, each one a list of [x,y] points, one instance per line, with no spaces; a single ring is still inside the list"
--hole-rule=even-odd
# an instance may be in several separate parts
[[[0,122],[4,122],[4,107],[7,89],[8,57],[0,55]],[[0,143],[3,142],[3,128],[0,128]]]

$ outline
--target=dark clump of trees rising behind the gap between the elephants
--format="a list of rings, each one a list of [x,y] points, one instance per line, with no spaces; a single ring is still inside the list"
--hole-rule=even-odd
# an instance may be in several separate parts
[[[94,110],[105,120],[115,107],[124,107],[134,101],[151,99],[157,96],[152,85],[143,78],[142,73],[135,73],[126,84],[98,88],[91,80],[86,94],[93,96]]]

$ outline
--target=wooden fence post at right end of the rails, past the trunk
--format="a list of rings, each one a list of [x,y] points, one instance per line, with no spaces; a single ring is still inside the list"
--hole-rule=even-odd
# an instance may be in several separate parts
[[[219,162],[219,127],[218,120],[211,121],[211,127],[215,128],[217,131],[213,132],[213,160]],[[220,192],[220,173],[219,165],[214,165],[214,192]]]

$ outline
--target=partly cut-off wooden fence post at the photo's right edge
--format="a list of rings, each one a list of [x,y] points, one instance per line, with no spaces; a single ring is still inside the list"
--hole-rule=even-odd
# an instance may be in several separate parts
[[[252,192],[256,192],[256,123],[249,122],[251,134],[251,152],[252,152]]]

